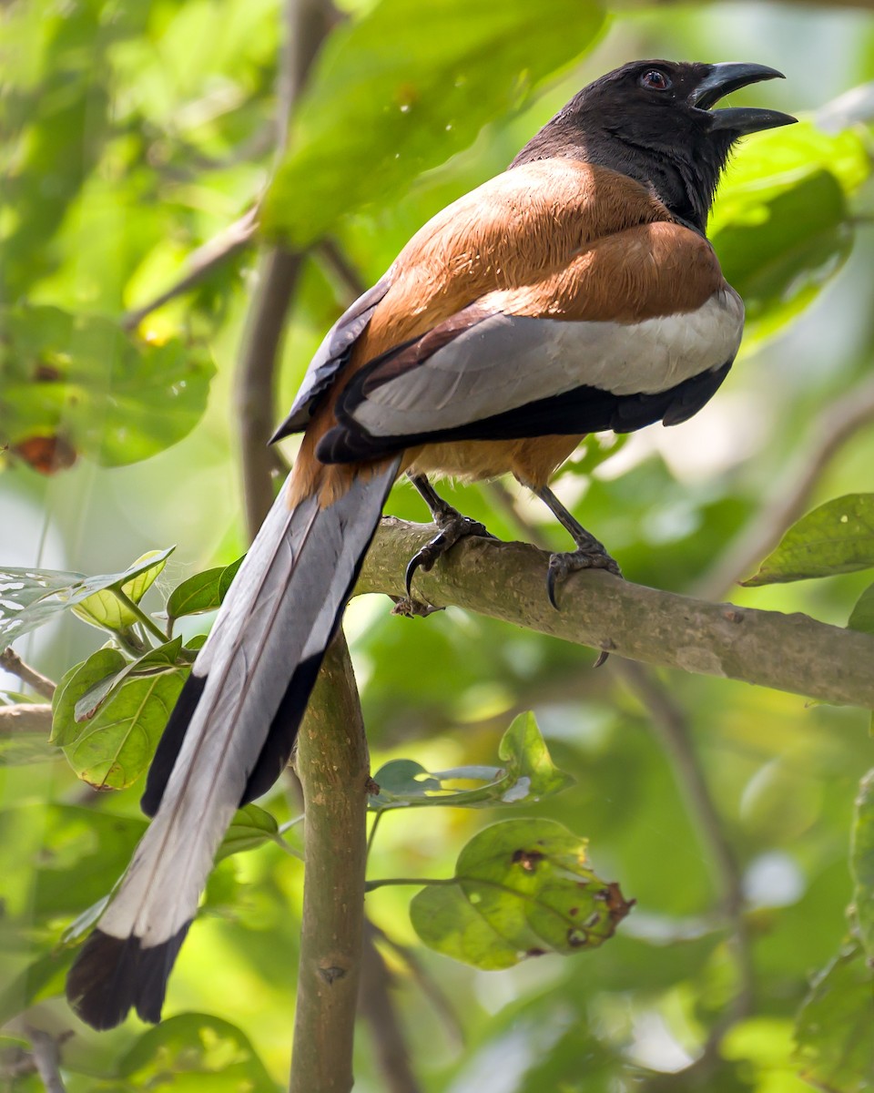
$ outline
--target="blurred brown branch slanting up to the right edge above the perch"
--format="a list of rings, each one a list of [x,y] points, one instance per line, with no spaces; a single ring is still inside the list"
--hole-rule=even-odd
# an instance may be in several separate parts
[[[698,580],[693,595],[721,599],[747,576],[780,541],[783,532],[804,515],[817,482],[840,449],[865,425],[874,422],[874,379],[866,379],[834,402],[818,419],[799,457],[777,483],[756,516],[729,543],[710,571]]]

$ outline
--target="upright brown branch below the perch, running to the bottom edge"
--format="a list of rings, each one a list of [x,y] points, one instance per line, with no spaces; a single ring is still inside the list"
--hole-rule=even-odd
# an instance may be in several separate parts
[[[328,650],[298,737],[304,917],[291,1093],[347,1093],[364,921],[368,755],[342,633]]]

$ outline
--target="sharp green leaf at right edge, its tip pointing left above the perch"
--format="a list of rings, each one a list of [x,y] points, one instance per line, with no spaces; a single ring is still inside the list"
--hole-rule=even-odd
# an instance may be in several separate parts
[[[827,501],[794,524],[746,587],[829,577],[874,566],[874,493]]]

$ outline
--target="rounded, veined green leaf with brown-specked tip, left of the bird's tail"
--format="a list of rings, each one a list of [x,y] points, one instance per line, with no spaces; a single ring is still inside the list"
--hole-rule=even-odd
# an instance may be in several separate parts
[[[98,789],[125,789],[145,771],[189,671],[158,665],[158,674],[127,674],[93,717],[76,721],[76,703],[127,666],[116,649],[99,649],[68,672],[56,692],[52,740],[76,775]],[[83,707],[93,704],[88,698]]]

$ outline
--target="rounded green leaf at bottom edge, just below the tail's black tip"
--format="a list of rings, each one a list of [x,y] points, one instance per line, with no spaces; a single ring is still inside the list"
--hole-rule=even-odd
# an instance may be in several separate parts
[[[246,1035],[205,1013],[184,1013],[150,1029],[118,1063],[131,1089],[153,1093],[280,1093]]]

